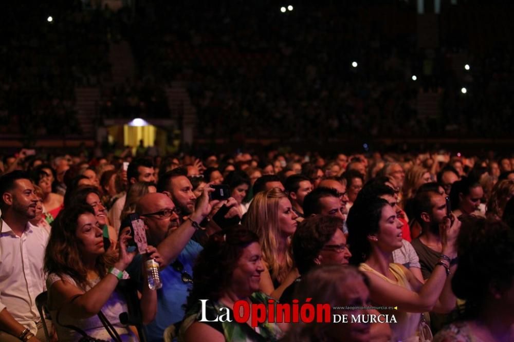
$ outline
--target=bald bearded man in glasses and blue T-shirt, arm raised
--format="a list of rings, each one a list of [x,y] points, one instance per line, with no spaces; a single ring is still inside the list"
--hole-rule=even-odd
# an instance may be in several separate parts
[[[157,290],[157,316],[145,326],[148,341],[162,341],[164,330],[179,322],[185,312],[189,290],[192,288],[193,264],[202,247],[191,237],[200,229],[199,223],[211,212],[209,193],[214,191],[206,186],[197,199],[196,208],[191,215],[180,223],[177,206],[165,194],[144,195],[136,206],[136,212],[148,227],[148,243],[157,246],[163,263],[160,277],[162,288]],[[139,279],[140,286],[146,285],[141,279],[141,262],[138,256],[127,270],[131,278]]]

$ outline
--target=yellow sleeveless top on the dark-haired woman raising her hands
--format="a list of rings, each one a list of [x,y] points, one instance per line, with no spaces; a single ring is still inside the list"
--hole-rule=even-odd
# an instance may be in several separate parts
[[[393,281],[389,279],[388,277],[382,275],[381,273],[375,271],[372,269],[368,264],[361,263],[359,265],[359,270],[370,272],[373,274],[376,274],[381,279],[388,281],[392,284],[395,284],[397,286],[401,286],[402,288],[405,288],[407,290],[412,291],[411,284],[409,283],[409,280],[407,279],[407,275],[401,268],[399,264],[396,263],[390,263],[389,264],[389,270],[391,273],[393,273],[394,277],[396,278],[396,281]],[[376,305],[380,305],[381,303],[375,303]],[[421,319],[420,313],[412,313],[412,312],[405,312],[405,311],[399,311],[399,310],[379,310],[380,313],[383,314],[389,314],[394,315],[396,318],[397,323],[390,323],[389,326],[391,327],[391,331],[393,333],[392,340],[393,341],[402,341],[402,342],[417,342],[419,340],[418,338],[418,327],[419,327],[419,320]]]

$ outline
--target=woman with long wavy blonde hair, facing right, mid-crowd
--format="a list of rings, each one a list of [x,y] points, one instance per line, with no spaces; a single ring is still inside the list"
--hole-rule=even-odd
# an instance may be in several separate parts
[[[245,224],[259,236],[262,248],[265,270],[261,275],[260,289],[278,299],[298,277],[289,249],[298,216],[292,210],[287,195],[279,188],[255,195],[246,215]]]

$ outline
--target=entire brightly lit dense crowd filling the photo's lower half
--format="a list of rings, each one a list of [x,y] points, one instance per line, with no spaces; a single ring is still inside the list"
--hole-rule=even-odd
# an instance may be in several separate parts
[[[4,156],[0,339],[514,339],[514,158],[327,157]]]

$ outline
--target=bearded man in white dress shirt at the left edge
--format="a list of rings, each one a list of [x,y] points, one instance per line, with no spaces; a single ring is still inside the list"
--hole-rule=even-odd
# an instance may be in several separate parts
[[[0,177],[0,341],[45,340],[35,297],[45,291],[48,233],[30,224],[38,197],[27,175]]]

